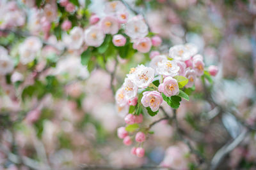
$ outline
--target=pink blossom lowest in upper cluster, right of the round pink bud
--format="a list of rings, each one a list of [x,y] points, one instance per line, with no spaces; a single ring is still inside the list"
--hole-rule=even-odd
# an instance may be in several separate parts
[[[150,41],[150,38],[148,37],[136,39],[136,41],[132,45],[134,49],[138,50],[141,53],[149,52],[151,46],[152,46],[152,43]]]

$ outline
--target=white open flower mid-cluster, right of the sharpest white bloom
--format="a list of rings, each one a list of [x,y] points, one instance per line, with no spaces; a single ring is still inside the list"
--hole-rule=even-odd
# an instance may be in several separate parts
[[[175,60],[162,60],[158,62],[156,71],[163,76],[177,76],[180,67]]]

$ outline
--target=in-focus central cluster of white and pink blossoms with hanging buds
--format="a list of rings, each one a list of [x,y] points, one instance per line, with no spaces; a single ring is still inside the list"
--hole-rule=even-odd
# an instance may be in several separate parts
[[[189,90],[195,89],[193,86],[196,78],[203,75],[211,78],[210,74],[216,75],[218,68],[210,68],[210,72],[205,70],[202,55],[190,43],[173,46],[168,56],[155,55],[149,67],[139,65],[131,68],[115,96],[118,111],[126,114],[129,112],[125,117],[127,126],[118,129],[118,137],[124,139],[125,145],[131,145],[132,136],[127,131],[137,132],[135,140],[143,143],[149,129],[138,125],[143,117],[141,108],[147,108],[150,116],[157,114],[163,101],[172,108],[179,108],[181,97],[189,100]],[[144,150],[132,148],[132,153],[142,157]]]

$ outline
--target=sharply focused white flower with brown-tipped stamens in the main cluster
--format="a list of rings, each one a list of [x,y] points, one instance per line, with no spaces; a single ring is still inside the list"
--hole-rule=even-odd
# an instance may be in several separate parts
[[[142,64],[136,67],[135,71],[129,75],[132,81],[139,87],[145,88],[152,83],[154,78],[154,69],[145,67]]]

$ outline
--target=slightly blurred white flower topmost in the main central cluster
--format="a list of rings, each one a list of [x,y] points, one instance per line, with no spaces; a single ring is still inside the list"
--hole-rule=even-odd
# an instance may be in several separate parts
[[[175,45],[170,48],[169,56],[176,60],[188,60],[191,57],[191,53],[186,46]]]

